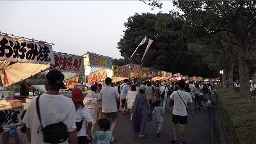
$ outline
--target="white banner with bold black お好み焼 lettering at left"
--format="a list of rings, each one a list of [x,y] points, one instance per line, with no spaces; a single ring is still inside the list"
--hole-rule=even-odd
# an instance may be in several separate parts
[[[20,63],[54,64],[52,45],[0,35],[0,60]]]

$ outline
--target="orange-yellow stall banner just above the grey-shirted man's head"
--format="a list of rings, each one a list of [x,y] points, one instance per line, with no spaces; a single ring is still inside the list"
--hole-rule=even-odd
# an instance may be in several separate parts
[[[89,76],[87,76],[87,79],[88,83],[91,85],[94,83],[98,83],[99,81],[103,81],[104,79],[106,79],[106,77],[108,77],[108,69],[104,68],[102,70],[92,72]]]

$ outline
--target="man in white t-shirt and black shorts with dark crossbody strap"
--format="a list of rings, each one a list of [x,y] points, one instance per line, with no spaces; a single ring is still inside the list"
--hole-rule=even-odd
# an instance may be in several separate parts
[[[186,83],[184,81],[179,81],[179,90],[174,91],[170,96],[169,102],[174,100],[174,106],[172,111],[172,131],[173,131],[173,140],[172,143],[177,141],[176,136],[176,126],[180,124],[180,143],[184,143],[183,139],[185,136],[185,124],[188,124],[188,111],[187,105],[189,105],[190,114],[193,116],[192,109],[192,99],[188,92],[184,92]]]

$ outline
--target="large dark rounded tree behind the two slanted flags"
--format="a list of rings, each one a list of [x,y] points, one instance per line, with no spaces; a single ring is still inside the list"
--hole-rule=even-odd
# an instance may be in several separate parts
[[[121,56],[130,58],[146,35],[154,42],[145,56],[143,67],[189,76],[211,76],[212,72],[202,63],[200,53],[188,51],[187,40],[182,35],[185,20],[179,13],[135,13],[127,20],[124,37],[118,42]],[[146,47],[147,42],[140,46],[132,63],[141,65]]]

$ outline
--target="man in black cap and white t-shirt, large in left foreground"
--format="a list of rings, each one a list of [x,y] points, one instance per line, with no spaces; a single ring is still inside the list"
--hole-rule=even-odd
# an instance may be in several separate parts
[[[30,143],[45,143],[44,134],[41,131],[47,125],[63,122],[67,126],[70,143],[77,143],[76,108],[74,102],[60,95],[60,89],[65,89],[64,75],[59,70],[51,70],[45,77],[45,90],[47,93],[40,95],[39,109],[41,123],[36,111],[36,98],[29,102],[28,110],[22,122],[27,126],[27,136]],[[41,127],[42,126],[42,127]],[[63,143],[68,143],[64,141]]]

